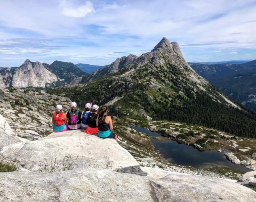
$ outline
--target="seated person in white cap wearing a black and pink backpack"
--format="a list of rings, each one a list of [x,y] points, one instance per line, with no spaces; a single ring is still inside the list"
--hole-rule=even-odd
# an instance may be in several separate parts
[[[68,128],[71,130],[81,128],[81,111],[77,109],[75,102],[71,103],[71,109],[67,112]]]

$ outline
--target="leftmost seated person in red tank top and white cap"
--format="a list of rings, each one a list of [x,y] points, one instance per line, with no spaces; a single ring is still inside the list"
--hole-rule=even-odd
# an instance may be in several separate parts
[[[67,116],[62,112],[62,105],[56,106],[56,112],[52,115],[52,128],[54,133],[66,131]]]

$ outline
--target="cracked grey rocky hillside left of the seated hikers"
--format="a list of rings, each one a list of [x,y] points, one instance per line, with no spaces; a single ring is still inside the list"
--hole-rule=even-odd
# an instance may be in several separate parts
[[[66,112],[71,103],[67,97],[34,89],[0,89],[0,100],[0,114],[15,135],[28,140],[40,139],[51,133],[51,115],[56,105],[62,105]]]

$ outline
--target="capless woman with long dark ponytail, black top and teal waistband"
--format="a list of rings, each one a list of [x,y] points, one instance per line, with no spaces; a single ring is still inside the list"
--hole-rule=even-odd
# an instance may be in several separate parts
[[[108,109],[106,105],[101,107],[100,115],[96,123],[98,128],[98,136],[101,138],[111,138],[117,141],[117,135],[113,132],[113,123],[110,116],[107,115]]]

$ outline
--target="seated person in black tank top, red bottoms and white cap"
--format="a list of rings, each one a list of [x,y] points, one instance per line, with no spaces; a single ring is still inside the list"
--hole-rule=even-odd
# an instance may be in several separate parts
[[[92,113],[88,115],[87,121],[88,121],[88,127],[84,130],[84,133],[95,135],[98,134],[98,128],[96,125],[96,119],[98,117],[98,105],[92,106]]]

